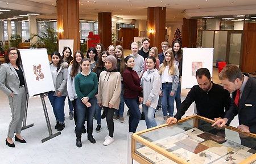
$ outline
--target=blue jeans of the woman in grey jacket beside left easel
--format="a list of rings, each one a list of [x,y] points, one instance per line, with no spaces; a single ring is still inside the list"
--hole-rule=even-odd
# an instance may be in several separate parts
[[[51,91],[48,93],[49,101],[51,102],[53,113],[55,115],[56,121],[64,124],[65,115],[64,115],[64,103],[67,96],[53,96],[54,92]]]

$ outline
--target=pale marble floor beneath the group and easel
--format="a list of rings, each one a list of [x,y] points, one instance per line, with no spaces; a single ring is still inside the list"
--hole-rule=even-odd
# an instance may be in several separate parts
[[[217,79],[216,69],[213,76]],[[219,81],[216,80],[215,83]],[[182,89],[181,99],[184,100],[188,93],[188,89]],[[126,116],[127,107],[125,107],[125,122],[120,123],[119,120],[114,121],[114,143],[104,146],[104,138],[108,134],[106,120],[102,119],[102,130],[100,133],[95,132],[97,126],[94,120],[93,136],[96,144],[91,144],[87,140],[87,135],[82,135],[82,147],[76,146],[76,135],[74,133],[74,120],[68,118],[68,103],[65,101],[65,128],[61,131],[61,135],[54,137],[42,143],[42,139],[49,136],[46,120],[44,118],[43,107],[39,96],[30,97],[28,103],[27,125],[34,123],[33,127],[22,131],[22,136],[26,139],[26,144],[15,142],[15,148],[9,148],[5,144],[7,128],[11,120],[11,111],[6,94],[0,90],[0,163],[127,163],[127,131],[128,119]],[[55,117],[48,97],[45,97],[48,110],[49,120],[53,133]],[[184,116],[193,114],[194,105],[188,109]],[[176,113],[176,107],[175,107]],[[162,110],[156,112],[156,121],[158,125],[162,124]],[[232,126],[237,126],[238,121],[235,118]],[[144,120],[139,122],[137,131],[145,130],[146,124]],[[13,139],[14,140],[14,139]],[[137,162],[134,162],[137,163]]]

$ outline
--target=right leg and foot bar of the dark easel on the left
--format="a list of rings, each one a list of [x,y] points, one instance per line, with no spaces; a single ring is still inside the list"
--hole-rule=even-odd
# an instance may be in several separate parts
[[[41,102],[42,102],[42,105],[43,105],[44,117],[46,118],[46,124],[47,124],[48,132],[49,132],[49,137],[46,137],[45,139],[42,139],[42,143],[44,143],[45,141],[48,141],[49,139],[52,139],[53,137],[59,136],[61,134],[61,132],[57,132],[55,134],[52,134],[51,123],[49,121],[49,116],[48,116],[48,112],[47,112],[47,108],[46,108],[46,101],[44,101],[44,94],[43,93],[40,94],[40,98],[41,98]]]

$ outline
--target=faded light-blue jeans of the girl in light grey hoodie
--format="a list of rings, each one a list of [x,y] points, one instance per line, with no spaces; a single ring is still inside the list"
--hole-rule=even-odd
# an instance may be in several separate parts
[[[142,103],[142,109],[144,110],[145,122],[146,122],[147,128],[152,128],[152,127],[158,126],[156,124],[156,120],[154,118],[155,108],[150,107],[150,106],[148,107],[148,106],[146,106],[145,104]]]

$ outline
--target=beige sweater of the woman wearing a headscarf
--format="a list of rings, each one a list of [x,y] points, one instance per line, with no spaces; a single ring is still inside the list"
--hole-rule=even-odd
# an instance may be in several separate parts
[[[119,72],[101,72],[98,81],[98,103],[105,107],[111,103],[114,109],[119,109],[121,90],[121,74]]]

